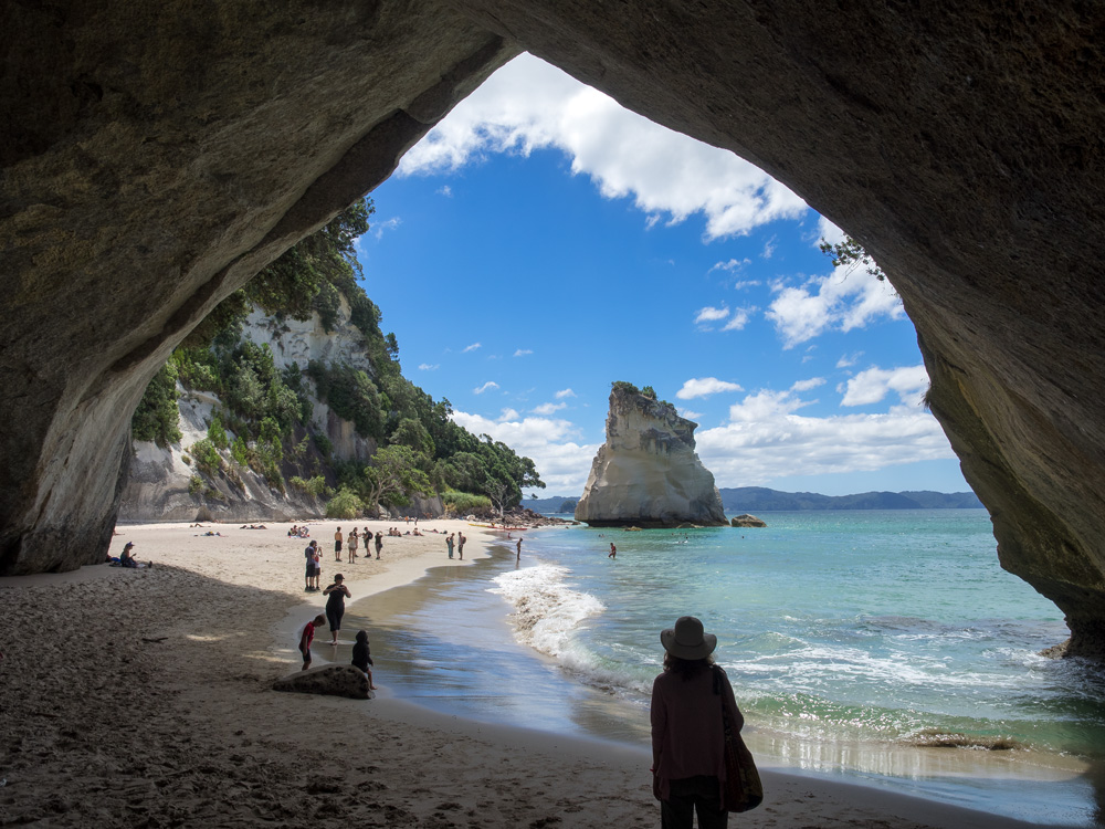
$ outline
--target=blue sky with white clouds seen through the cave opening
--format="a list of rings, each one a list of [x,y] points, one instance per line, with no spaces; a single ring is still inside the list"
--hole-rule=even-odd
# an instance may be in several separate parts
[[[582,491],[614,380],[699,424],[719,486],[968,489],[893,288],[834,271],[840,231],[732,153],[523,55],[371,197],[364,284],[404,374],[545,494]]]

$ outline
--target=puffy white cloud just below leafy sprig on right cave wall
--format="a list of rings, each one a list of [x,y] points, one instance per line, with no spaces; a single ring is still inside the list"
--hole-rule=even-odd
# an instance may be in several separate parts
[[[799,287],[777,283],[774,290],[777,295],[766,315],[782,337],[783,348],[792,348],[832,328],[849,332],[881,317],[905,316],[902,300],[890,283],[862,269],[841,266],[829,276],[810,279]]]

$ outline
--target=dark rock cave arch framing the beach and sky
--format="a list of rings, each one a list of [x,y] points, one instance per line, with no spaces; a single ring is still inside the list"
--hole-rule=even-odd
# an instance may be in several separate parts
[[[97,560],[129,412],[171,348],[525,49],[862,229],[1002,565],[1066,613],[1072,652],[1105,655],[1105,9],[13,0],[0,14],[0,574]]]

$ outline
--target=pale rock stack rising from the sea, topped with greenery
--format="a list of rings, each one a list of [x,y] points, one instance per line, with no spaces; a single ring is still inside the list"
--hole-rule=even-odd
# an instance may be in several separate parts
[[[607,442],[591,463],[576,521],[600,527],[724,525],[714,475],[694,451],[696,427],[671,403],[611,391]]]

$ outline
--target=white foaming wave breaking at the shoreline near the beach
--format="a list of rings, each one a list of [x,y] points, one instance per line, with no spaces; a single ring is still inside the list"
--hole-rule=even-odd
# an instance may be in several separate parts
[[[514,606],[518,641],[548,657],[566,655],[580,623],[606,610],[596,597],[568,587],[569,574],[567,567],[541,564],[496,576],[497,587],[488,589]]]

